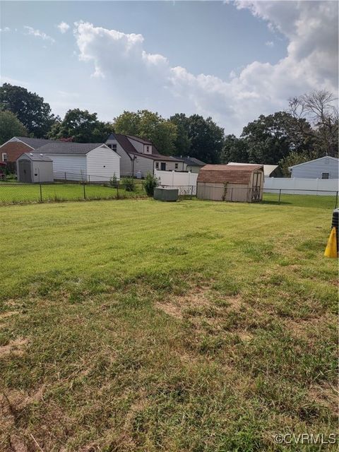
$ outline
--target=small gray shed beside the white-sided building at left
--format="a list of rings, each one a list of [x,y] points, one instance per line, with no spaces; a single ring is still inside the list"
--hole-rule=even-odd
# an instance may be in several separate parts
[[[39,153],[24,153],[16,160],[18,182],[53,182],[53,160]]]

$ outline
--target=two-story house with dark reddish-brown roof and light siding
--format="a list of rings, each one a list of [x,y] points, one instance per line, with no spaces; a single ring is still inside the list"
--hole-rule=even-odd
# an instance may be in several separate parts
[[[145,177],[148,173],[154,174],[155,169],[186,171],[186,164],[182,159],[161,155],[150,141],[136,136],[111,133],[106,144],[121,157],[121,176]]]

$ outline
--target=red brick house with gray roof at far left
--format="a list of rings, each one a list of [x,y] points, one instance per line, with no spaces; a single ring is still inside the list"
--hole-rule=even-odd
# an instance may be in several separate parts
[[[35,149],[47,143],[55,143],[52,140],[44,140],[43,138],[28,138],[26,136],[13,136],[0,146],[0,162],[14,164],[16,159],[23,153],[31,153]]]

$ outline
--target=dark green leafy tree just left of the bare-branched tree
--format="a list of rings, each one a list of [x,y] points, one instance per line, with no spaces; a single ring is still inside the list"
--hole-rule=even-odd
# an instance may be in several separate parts
[[[249,163],[276,165],[291,152],[307,153],[312,140],[304,131],[311,129],[306,119],[296,119],[286,112],[261,114],[244,127]]]

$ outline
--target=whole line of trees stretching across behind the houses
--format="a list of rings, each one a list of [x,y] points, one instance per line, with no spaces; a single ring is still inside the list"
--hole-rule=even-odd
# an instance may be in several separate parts
[[[165,119],[143,109],[124,111],[109,122],[76,108],[61,119],[43,97],[4,83],[0,87],[0,144],[12,136],[102,143],[115,132],[148,139],[165,155],[196,157],[206,163],[279,164],[287,175],[291,165],[323,155],[338,156],[335,101],[326,90],[293,97],[285,111],[261,114],[237,137],[225,134],[211,117],[198,114],[177,113]]]

